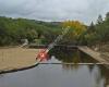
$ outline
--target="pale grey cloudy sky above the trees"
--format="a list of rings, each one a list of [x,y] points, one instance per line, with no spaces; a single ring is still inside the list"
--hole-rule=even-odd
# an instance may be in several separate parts
[[[43,21],[78,20],[86,24],[109,12],[109,0],[0,0],[0,15]]]

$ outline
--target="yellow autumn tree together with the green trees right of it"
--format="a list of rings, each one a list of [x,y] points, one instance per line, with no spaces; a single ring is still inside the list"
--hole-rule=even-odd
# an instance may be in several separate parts
[[[71,28],[64,38],[64,44],[90,47],[109,44],[109,12],[105,18],[98,15],[97,22],[95,24],[92,22],[89,26],[78,21],[63,22],[63,26],[70,26]]]

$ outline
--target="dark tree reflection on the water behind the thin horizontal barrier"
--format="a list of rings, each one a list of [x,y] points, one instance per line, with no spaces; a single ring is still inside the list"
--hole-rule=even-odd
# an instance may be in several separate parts
[[[97,61],[93,60],[90,57],[82,53],[78,50],[60,50],[60,49],[52,49],[49,52],[49,55],[55,55],[57,60],[63,63],[96,63]]]

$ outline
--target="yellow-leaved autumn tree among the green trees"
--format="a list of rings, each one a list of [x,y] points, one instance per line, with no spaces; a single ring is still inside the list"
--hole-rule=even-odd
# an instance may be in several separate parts
[[[78,21],[66,21],[62,23],[62,26],[65,27],[70,27],[69,33],[65,35],[65,42],[68,44],[74,44],[77,45],[80,38],[82,37],[82,35],[84,34],[84,32],[86,30],[86,27],[83,23],[78,22]]]

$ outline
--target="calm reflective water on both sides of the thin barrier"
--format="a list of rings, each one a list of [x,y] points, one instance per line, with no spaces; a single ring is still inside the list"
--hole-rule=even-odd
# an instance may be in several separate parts
[[[48,62],[96,62],[80,51],[53,50]],[[40,64],[0,76],[0,87],[108,87],[109,70],[102,65]]]

